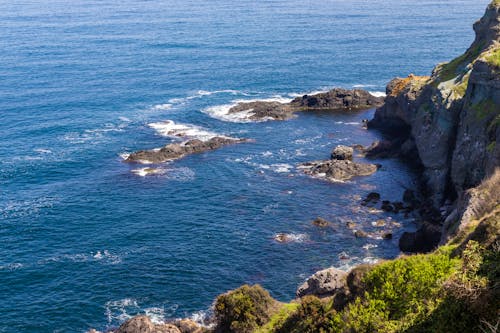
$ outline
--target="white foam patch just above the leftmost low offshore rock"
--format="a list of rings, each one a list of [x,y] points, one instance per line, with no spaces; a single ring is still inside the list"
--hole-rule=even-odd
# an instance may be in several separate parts
[[[171,138],[192,138],[207,141],[216,136],[226,137],[196,125],[180,124],[172,120],[150,123],[148,126],[156,130],[158,134]]]

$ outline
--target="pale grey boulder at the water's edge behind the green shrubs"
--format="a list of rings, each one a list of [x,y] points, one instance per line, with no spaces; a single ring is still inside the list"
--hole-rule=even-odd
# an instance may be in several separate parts
[[[336,268],[327,268],[314,273],[298,289],[297,297],[315,295],[317,297],[333,296],[346,286],[347,273]]]

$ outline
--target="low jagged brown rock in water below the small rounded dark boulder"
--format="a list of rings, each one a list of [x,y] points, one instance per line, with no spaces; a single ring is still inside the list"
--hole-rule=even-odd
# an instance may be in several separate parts
[[[375,164],[356,163],[349,160],[315,161],[301,164],[304,172],[321,176],[330,181],[345,181],[356,176],[369,176],[377,171]]]

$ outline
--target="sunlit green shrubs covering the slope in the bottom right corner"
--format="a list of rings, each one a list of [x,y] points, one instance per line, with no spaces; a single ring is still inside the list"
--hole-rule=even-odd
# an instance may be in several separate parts
[[[340,309],[334,305],[336,296],[306,296],[298,303],[281,305],[282,311],[259,317],[261,326],[256,327],[254,320],[247,325],[248,318],[255,318],[253,310],[245,313],[253,307],[242,304],[231,308],[244,318],[242,325],[232,322],[225,332],[483,332],[498,327],[499,235],[497,207],[433,253],[374,266],[362,278],[359,296]],[[253,298],[250,287],[238,289],[233,296],[240,299],[247,292],[245,297]],[[232,316],[226,307],[222,315],[218,304],[218,318]]]

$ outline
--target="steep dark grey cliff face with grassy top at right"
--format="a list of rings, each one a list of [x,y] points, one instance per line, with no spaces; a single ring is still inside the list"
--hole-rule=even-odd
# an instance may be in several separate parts
[[[500,166],[500,1],[474,31],[469,49],[430,77],[392,80],[369,123],[399,137],[402,149],[416,146],[433,205],[455,202],[448,225],[467,209],[466,191]]]

